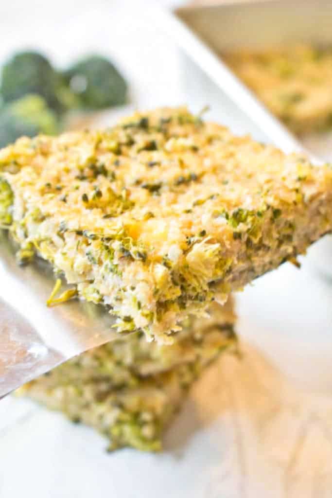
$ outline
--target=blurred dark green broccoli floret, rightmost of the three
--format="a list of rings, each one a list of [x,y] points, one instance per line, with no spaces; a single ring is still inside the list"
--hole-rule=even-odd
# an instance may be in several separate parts
[[[105,57],[91,55],[64,73],[70,90],[86,109],[104,109],[126,102],[127,84]]]

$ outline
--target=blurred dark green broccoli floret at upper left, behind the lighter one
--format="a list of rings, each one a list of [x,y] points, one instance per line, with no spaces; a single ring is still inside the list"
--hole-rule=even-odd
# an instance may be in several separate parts
[[[42,96],[57,112],[63,110],[59,98],[62,78],[49,60],[38,52],[19,52],[2,67],[0,94],[4,103],[27,94]]]

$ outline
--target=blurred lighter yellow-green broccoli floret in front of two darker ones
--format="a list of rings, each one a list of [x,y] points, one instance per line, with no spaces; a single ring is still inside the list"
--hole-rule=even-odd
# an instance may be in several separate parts
[[[39,95],[26,95],[5,105],[0,111],[0,147],[23,135],[53,135],[58,131],[59,123],[55,113]]]

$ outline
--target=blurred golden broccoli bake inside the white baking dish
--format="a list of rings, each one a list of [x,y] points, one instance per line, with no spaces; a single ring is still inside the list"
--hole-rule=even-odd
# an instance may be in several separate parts
[[[289,45],[223,58],[295,133],[332,127],[331,48]]]

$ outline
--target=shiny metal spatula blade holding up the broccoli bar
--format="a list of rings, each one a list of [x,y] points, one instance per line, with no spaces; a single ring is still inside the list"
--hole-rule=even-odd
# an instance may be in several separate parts
[[[43,261],[18,266],[0,231],[0,397],[117,337],[103,306],[71,300],[48,308],[54,282]]]

